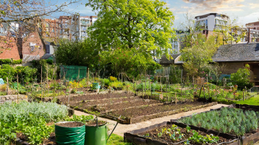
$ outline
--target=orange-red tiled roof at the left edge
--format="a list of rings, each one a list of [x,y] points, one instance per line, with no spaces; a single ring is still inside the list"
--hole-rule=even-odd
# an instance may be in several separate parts
[[[0,36],[0,59],[20,59],[14,37]]]

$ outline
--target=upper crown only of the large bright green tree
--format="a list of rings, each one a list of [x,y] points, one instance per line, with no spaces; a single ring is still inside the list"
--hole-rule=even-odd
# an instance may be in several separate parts
[[[86,6],[98,11],[98,20],[89,31],[91,41],[101,50],[167,53],[174,16],[165,4],[159,0],[89,0]]]

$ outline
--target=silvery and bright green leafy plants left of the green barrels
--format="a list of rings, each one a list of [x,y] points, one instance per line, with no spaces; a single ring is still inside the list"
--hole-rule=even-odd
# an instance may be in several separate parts
[[[10,144],[16,132],[23,133],[30,144],[40,144],[54,131],[46,123],[67,116],[67,107],[56,103],[6,102],[0,105],[0,144]]]

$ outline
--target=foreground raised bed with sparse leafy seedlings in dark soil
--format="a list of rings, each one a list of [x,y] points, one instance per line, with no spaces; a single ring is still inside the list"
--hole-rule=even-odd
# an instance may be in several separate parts
[[[196,130],[190,126],[176,125],[175,122],[163,122],[146,128],[124,133],[124,140],[135,144],[231,144],[233,136],[214,134],[211,130]],[[235,140],[234,140],[235,141]],[[233,141],[233,142],[234,142]]]

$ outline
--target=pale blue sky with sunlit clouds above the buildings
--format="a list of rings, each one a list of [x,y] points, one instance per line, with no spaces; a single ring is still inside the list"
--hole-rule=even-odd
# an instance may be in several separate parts
[[[247,23],[259,21],[259,0],[163,0],[167,3],[170,11],[175,16],[174,28],[178,28],[184,22],[184,15],[188,13],[193,18],[195,16],[208,13],[226,14],[230,19],[236,19],[240,26]],[[52,3],[58,5],[66,0],[58,0]],[[90,7],[85,7],[87,1],[82,0],[78,4],[68,6],[71,13],[79,13],[81,16],[95,16]],[[65,13],[56,13],[54,17],[59,18]]]

